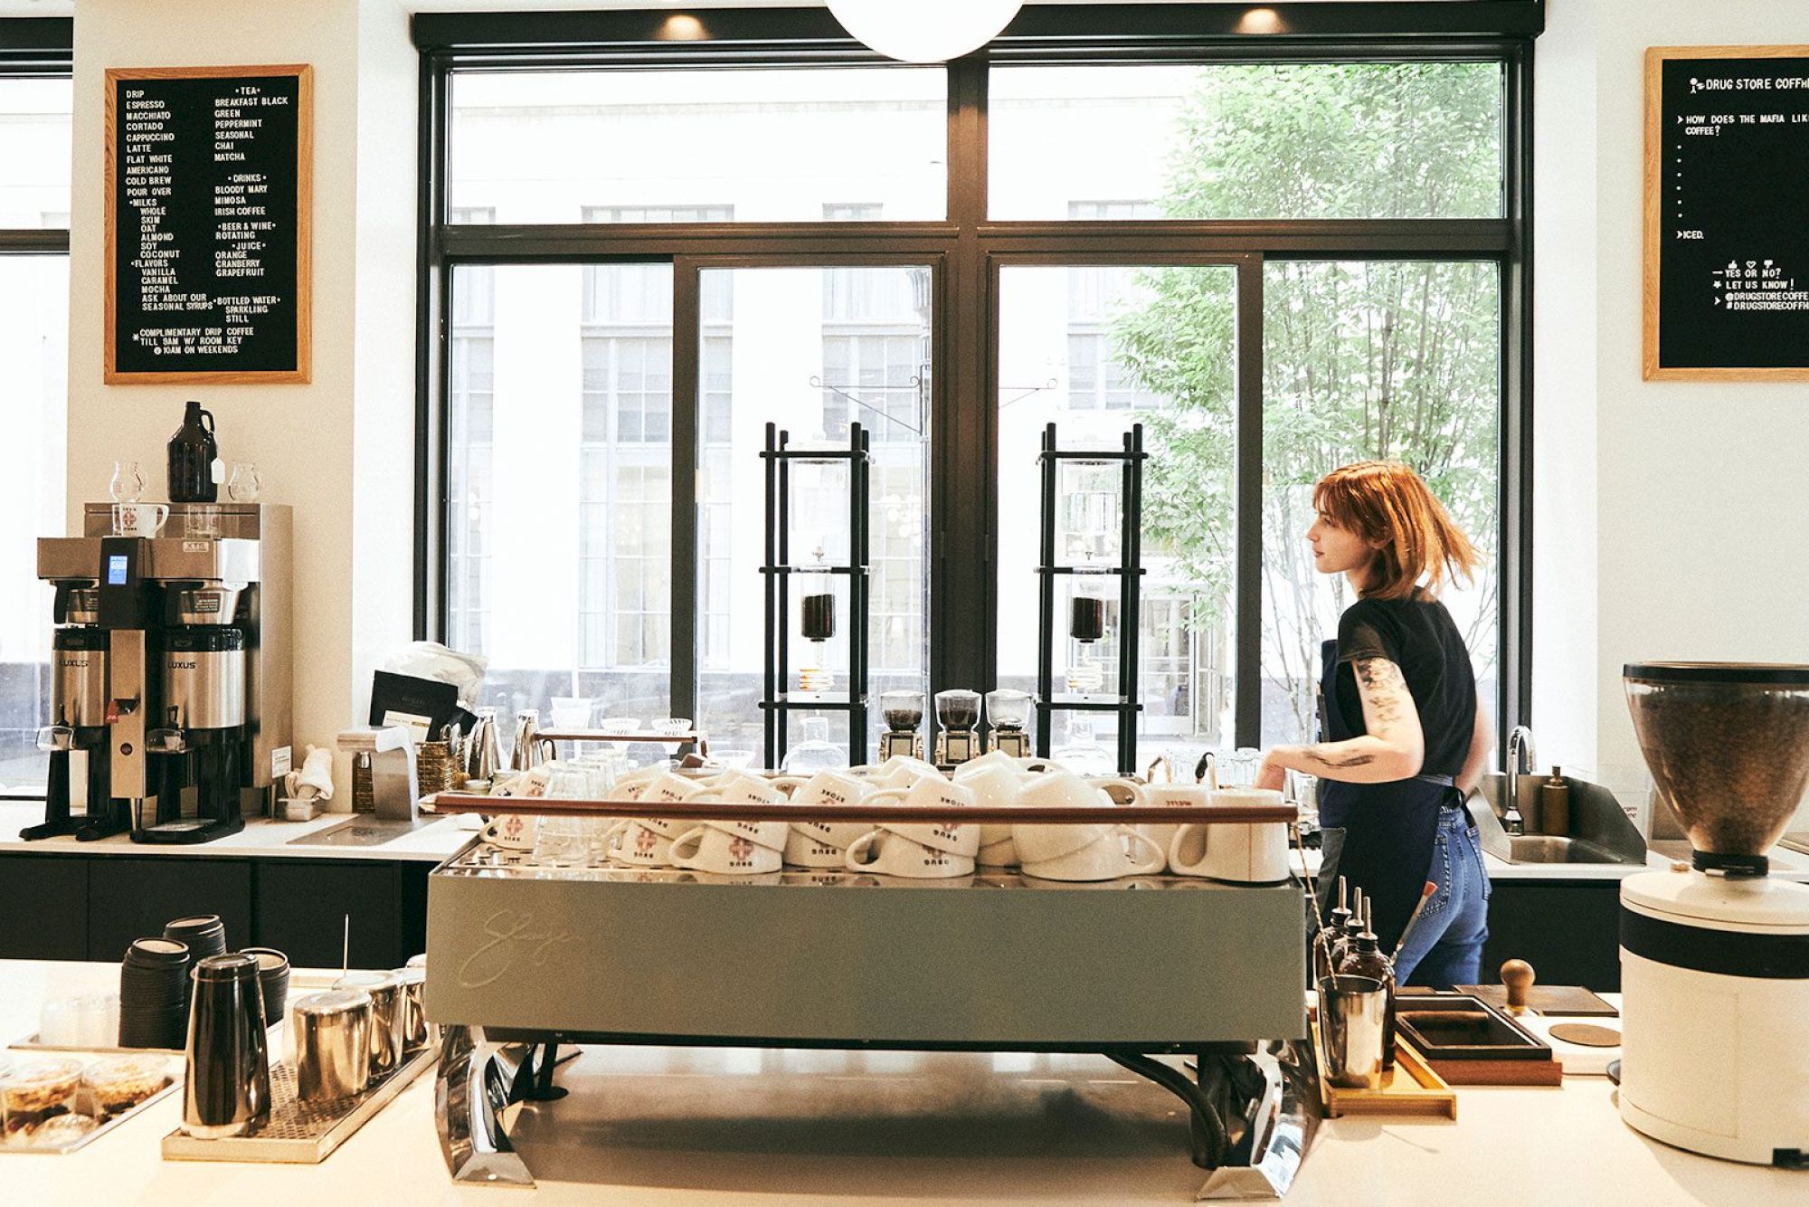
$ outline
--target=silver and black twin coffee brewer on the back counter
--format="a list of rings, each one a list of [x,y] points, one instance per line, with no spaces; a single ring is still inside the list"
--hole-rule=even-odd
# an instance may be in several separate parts
[[[288,507],[174,503],[156,536],[118,536],[114,508],[89,503],[81,536],[38,541],[69,653],[56,693],[99,691],[99,706],[62,708],[85,724],[45,731],[52,787],[58,756],[65,784],[69,765],[56,746],[87,749],[89,814],[116,820],[107,832],[197,843],[270,813],[289,769],[289,532]],[[45,825],[69,825],[54,794]]]

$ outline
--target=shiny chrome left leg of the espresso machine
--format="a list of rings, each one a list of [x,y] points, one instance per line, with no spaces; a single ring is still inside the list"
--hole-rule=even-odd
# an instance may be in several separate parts
[[[525,1044],[487,1041],[483,1028],[445,1028],[434,1086],[434,1122],[440,1127],[440,1151],[454,1182],[534,1185],[534,1174],[510,1145],[501,1118],[521,1064],[532,1053]]]

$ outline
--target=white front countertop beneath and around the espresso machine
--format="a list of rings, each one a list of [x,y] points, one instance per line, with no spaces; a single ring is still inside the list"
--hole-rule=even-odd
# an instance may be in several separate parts
[[[0,961],[0,1035],[112,965]],[[297,979],[304,977],[297,972]],[[165,1162],[177,1095],[71,1156],[0,1156],[13,1203],[1187,1203],[1176,1102],[1102,1057],[586,1048],[572,1097],[514,1126],[539,1185],[454,1187],[425,1073],[320,1165]],[[1458,1120],[1321,1126],[1306,1207],[1805,1202],[1809,1173],[1719,1162],[1626,1127],[1601,1077],[1462,1088]]]

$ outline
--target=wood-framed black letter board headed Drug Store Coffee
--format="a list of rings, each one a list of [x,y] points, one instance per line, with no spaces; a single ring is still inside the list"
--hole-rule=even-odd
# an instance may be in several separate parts
[[[1809,47],[1646,51],[1646,380],[1809,380]]]

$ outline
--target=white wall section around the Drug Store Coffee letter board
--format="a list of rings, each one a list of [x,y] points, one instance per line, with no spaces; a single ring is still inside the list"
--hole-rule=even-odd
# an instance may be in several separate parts
[[[1534,252],[1543,762],[1639,765],[1628,661],[1809,661],[1809,384],[1643,382],[1639,304],[1646,47],[1800,43],[1805,18],[1776,0],[1550,5]]]

